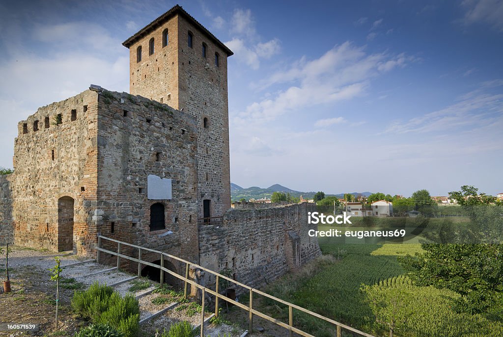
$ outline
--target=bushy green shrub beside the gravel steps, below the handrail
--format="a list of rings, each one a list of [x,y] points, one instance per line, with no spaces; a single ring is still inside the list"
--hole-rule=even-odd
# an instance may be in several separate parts
[[[86,291],[75,291],[71,307],[75,313],[97,324],[109,324],[126,337],[138,333],[140,309],[132,295],[122,297],[111,287],[95,282]]]

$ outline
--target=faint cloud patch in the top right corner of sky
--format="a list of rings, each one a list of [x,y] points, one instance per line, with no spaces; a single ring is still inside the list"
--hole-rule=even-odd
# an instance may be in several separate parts
[[[503,0],[465,0],[462,6],[466,9],[465,25],[482,22],[503,31]]]

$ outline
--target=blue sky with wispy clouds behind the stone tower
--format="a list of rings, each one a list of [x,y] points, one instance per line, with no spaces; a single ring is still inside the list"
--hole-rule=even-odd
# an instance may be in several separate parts
[[[171,1],[0,4],[0,166],[17,123],[95,83]],[[234,51],[231,181],[296,190],[503,192],[503,1],[180,1]]]

